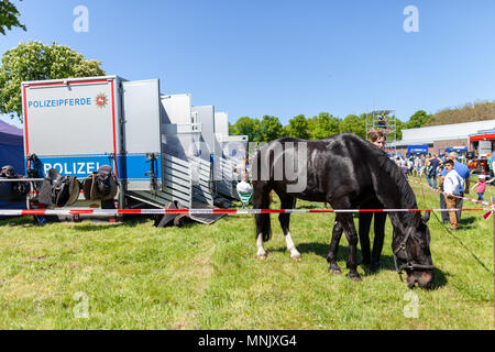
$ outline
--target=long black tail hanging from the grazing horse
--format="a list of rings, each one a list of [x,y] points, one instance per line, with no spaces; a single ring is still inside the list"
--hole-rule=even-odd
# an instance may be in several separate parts
[[[254,209],[268,209],[270,208],[270,193],[272,188],[270,187],[270,180],[262,179],[261,176],[263,173],[261,172],[261,168],[263,166],[262,161],[262,154],[261,151],[257,151],[256,155],[253,158],[253,165],[251,169],[255,172],[255,175],[253,177],[253,208]],[[270,166],[268,166],[270,167]],[[270,221],[270,215],[263,213],[263,215],[255,215],[254,216],[255,223],[256,223],[256,233],[255,238],[260,234],[263,234],[263,241],[266,242],[272,238],[272,227]]]

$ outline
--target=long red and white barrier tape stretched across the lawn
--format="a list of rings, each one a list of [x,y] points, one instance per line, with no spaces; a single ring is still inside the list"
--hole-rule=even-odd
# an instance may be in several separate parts
[[[119,216],[119,215],[263,215],[407,211],[493,211],[494,209],[2,209],[0,216]]]

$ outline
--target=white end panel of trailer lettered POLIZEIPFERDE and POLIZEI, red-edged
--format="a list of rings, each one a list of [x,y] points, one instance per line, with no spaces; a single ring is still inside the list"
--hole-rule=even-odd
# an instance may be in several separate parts
[[[114,78],[23,85],[24,151],[43,170],[84,178],[109,164],[117,173]]]

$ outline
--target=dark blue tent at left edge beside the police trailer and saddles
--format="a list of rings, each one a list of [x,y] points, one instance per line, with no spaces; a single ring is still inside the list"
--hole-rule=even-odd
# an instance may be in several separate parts
[[[0,120],[0,167],[11,165],[19,175],[24,175],[23,132]],[[2,190],[0,183],[0,191]],[[0,209],[24,209],[25,202],[6,202],[0,200]],[[1,217],[0,217],[1,218]]]

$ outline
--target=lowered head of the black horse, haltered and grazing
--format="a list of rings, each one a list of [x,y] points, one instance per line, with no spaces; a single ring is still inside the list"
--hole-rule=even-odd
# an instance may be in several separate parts
[[[430,212],[421,218],[416,213],[415,221],[405,228],[404,233],[396,233],[392,241],[396,268],[400,274],[407,273],[407,286],[416,284],[424,288],[430,288],[433,282],[433,262],[430,253],[430,230],[427,221]]]

